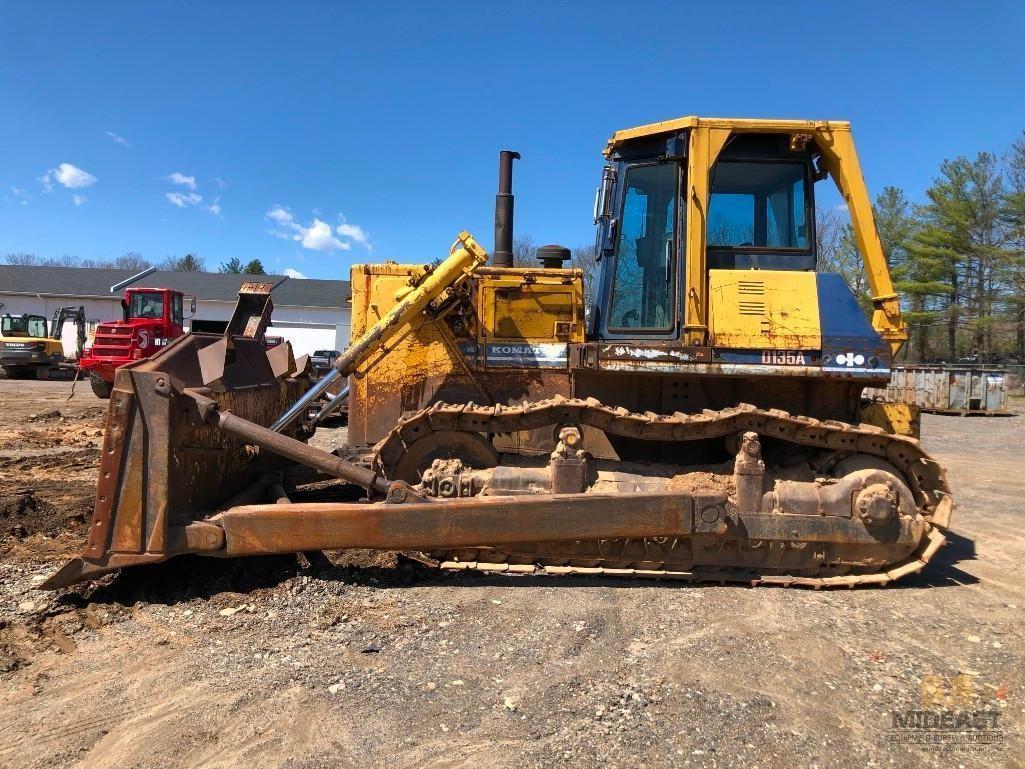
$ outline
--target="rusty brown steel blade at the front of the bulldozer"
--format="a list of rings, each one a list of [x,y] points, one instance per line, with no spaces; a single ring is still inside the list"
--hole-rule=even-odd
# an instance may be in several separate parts
[[[195,541],[195,531],[189,541],[188,524],[291,462],[205,423],[196,398],[269,424],[309,383],[295,374],[284,345],[268,352],[258,339],[229,341],[205,333],[182,336],[158,355],[118,369],[85,551],[42,586],[162,561],[204,544]]]

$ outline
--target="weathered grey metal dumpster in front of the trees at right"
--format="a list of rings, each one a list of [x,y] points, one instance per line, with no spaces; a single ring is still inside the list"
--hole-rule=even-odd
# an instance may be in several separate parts
[[[983,366],[894,366],[888,388],[870,400],[911,403],[938,414],[1007,414],[1008,371]]]

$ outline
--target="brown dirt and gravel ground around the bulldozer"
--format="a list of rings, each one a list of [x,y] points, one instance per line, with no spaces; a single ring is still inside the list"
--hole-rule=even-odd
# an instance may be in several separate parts
[[[179,559],[53,595],[33,585],[81,549],[106,413],[69,388],[0,381],[0,766],[1025,766],[1020,415],[925,416],[955,535],[885,589],[357,553]],[[998,741],[895,742],[924,696],[995,714]]]

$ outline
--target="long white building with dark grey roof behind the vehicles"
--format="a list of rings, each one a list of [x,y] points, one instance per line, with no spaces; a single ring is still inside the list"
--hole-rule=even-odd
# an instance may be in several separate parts
[[[0,265],[0,315],[42,315],[49,321],[63,306],[85,308],[91,336],[100,321],[121,318],[124,289],[111,286],[131,278],[130,270],[68,267],[17,267]],[[292,279],[283,275],[223,275],[159,271],[132,283],[130,288],[173,288],[196,297],[196,315],[186,320],[187,330],[220,331],[232,316],[239,286],[244,281],[278,284],[269,334],[283,336],[296,355],[315,350],[348,347],[351,306],[348,283],[341,280]],[[74,331],[61,335],[66,352],[74,351]]]

